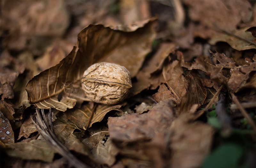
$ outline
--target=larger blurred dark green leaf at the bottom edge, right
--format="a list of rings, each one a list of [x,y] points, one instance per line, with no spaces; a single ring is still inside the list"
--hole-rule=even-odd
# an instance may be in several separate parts
[[[238,168],[243,148],[234,143],[227,143],[210,154],[202,164],[202,168]]]

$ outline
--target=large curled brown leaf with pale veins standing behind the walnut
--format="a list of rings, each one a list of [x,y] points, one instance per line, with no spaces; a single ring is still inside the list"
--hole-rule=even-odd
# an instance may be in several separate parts
[[[60,111],[73,108],[77,99],[83,99],[85,96],[79,87],[84,71],[93,63],[106,58],[106,61],[121,65],[125,63],[124,66],[134,76],[151,48],[155,36],[154,20],[149,19],[144,27],[137,27],[132,32],[119,31],[103,25],[86,27],[78,34],[78,49],[74,47],[58,65],[41,72],[28,82],[28,100],[37,108],[52,107]],[[114,56],[118,59],[114,60]],[[140,59],[137,60],[137,57]]]

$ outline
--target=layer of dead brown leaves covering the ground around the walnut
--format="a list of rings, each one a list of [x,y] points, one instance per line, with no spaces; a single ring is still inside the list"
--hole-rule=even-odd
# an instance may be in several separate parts
[[[3,166],[70,167],[38,133],[30,118],[36,108],[52,109],[58,141],[91,167],[200,167],[217,144],[217,131],[206,120],[211,107],[220,106],[220,93],[227,95],[224,109],[231,109],[228,128],[241,127],[237,121],[245,118],[256,129],[255,111],[245,110],[256,107],[255,3],[1,5]],[[132,88],[123,102],[96,104],[84,94],[83,73],[98,62],[130,72]]]

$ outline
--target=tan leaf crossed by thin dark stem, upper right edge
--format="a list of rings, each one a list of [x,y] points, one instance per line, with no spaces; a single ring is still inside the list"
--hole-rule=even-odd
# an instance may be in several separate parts
[[[251,32],[246,31],[249,28],[250,27],[243,27],[243,28],[237,29],[233,31],[232,34],[238,37],[241,37],[247,41],[254,42],[254,37],[252,36]],[[255,42],[254,44],[252,44],[229,34],[223,34],[223,33],[215,34],[211,38],[209,43],[214,45],[216,42],[227,42],[233,49],[236,49],[238,51],[256,49]]]

